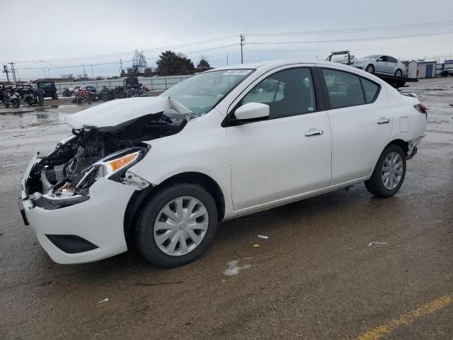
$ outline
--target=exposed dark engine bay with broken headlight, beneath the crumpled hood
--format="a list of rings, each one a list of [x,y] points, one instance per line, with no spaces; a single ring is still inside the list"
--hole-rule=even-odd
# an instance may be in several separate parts
[[[150,149],[143,141],[175,135],[188,118],[180,113],[153,113],[121,125],[117,130],[72,129],[47,157],[38,159],[25,181],[25,192],[35,206],[63,208],[89,199],[90,186],[101,177],[125,185],[137,185],[127,169]],[[149,183],[148,183],[149,185]]]

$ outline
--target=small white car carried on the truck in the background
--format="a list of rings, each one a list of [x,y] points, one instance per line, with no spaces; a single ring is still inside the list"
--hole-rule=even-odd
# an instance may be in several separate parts
[[[352,64],[357,69],[369,73],[390,74],[395,77],[408,77],[408,68],[398,59],[389,55],[367,55]]]

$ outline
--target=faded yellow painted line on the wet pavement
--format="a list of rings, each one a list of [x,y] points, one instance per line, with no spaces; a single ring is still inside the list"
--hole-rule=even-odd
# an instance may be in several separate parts
[[[443,295],[436,300],[432,300],[426,303],[423,306],[416,308],[415,310],[410,310],[406,314],[403,314],[398,319],[393,319],[385,324],[382,324],[379,327],[365,331],[364,334],[359,336],[357,340],[379,340],[382,339],[382,336],[386,336],[394,329],[403,326],[412,324],[415,319],[419,317],[425,317],[428,314],[441,310],[443,307],[449,305],[453,302],[453,294]]]

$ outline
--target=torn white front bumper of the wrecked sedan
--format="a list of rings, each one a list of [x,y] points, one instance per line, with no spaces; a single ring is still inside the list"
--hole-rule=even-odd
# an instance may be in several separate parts
[[[55,210],[33,208],[25,185],[37,161],[38,154],[28,165],[22,180],[24,222],[28,221],[33,227],[42,248],[52,260],[84,263],[127,251],[124,217],[135,189],[101,178],[89,189],[89,200]],[[91,246],[87,247],[89,244]]]

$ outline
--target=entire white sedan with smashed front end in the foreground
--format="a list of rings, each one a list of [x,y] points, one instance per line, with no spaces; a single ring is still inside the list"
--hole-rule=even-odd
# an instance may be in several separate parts
[[[359,69],[296,60],[213,69],[67,123],[71,137],[36,154],[22,180],[23,219],[42,247],[81,263],[134,240],[174,267],[201,256],[224,220],[364,181],[393,196],[426,108]]]

